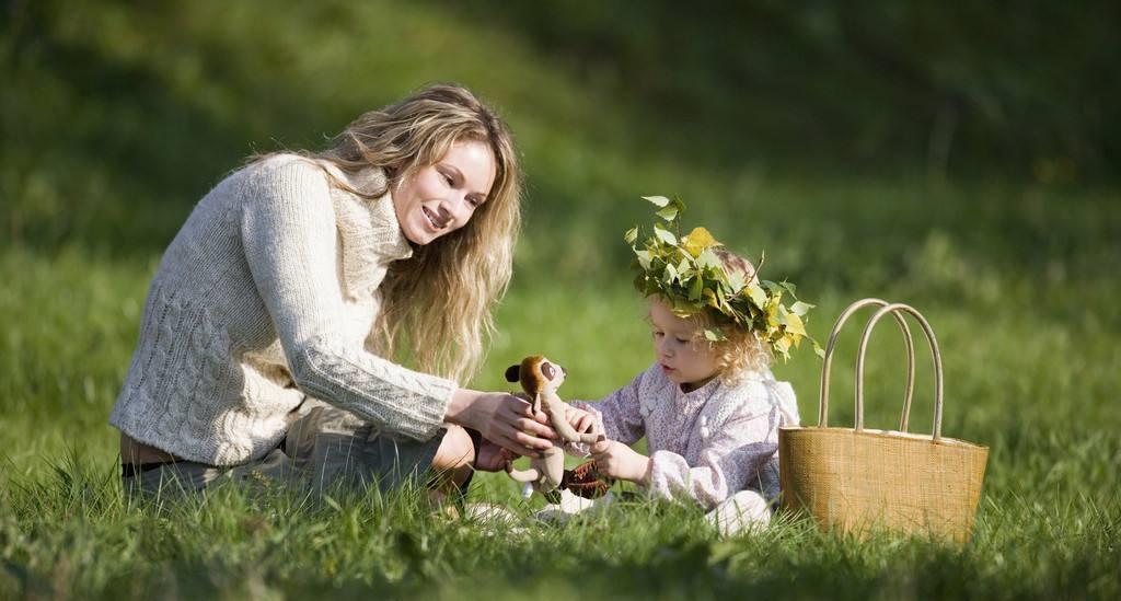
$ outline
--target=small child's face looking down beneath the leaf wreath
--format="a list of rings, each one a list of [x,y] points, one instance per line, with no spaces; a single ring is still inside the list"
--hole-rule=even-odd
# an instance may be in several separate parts
[[[660,300],[650,302],[650,330],[663,373],[686,391],[704,386],[720,371],[716,353],[698,340],[697,326],[674,315]]]

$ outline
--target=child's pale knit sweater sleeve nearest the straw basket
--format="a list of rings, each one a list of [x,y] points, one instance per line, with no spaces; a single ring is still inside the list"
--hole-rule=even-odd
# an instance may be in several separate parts
[[[651,494],[691,500],[706,510],[720,505],[758,474],[778,451],[782,412],[769,404],[742,404],[708,433],[702,426],[701,460],[689,465],[682,455],[657,451],[650,459]]]

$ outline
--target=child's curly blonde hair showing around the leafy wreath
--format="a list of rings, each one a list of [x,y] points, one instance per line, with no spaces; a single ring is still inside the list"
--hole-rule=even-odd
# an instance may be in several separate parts
[[[748,259],[724,249],[717,249],[715,253],[728,275],[738,274],[743,277],[744,281],[751,281],[751,278],[756,276],[756,267]],[[759,340],[753,330],[719,321],[708,311],[686,318],[697,326],[696,343],[708,344],[715,351],[716,364],[720,367],[720,380],[726,386],[735,386],[749,372],[767,368],[773,361],[770,346]],[[703,332],[708,329],[720,330],[725,340],[713,342],[705,339]]]

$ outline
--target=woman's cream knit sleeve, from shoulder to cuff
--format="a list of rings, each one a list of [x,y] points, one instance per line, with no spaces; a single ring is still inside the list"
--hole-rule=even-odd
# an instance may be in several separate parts
[[[269,167],[242,205],[241,239],[296,386],[390,432],[432,438],[455,382],[368,352],[364,336],[343,335],[339,234],[327,179],[298,159]]]

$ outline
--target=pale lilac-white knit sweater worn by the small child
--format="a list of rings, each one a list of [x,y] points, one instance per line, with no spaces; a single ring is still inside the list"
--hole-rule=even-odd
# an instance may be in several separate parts
[[[778,428],[798,424],[794,389],[766,368],[733,387],[716,378],[682,392],[655,363],[600,403],[571,403],[592,412],[608,438],[634,444],[646,436],[652,494],[705,509],[741,490],[777,498]]]

